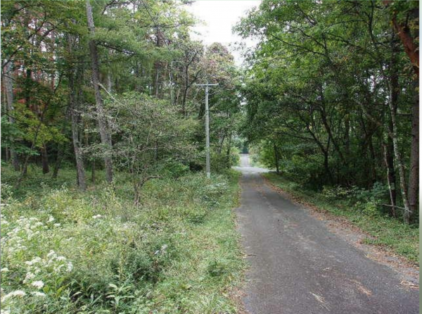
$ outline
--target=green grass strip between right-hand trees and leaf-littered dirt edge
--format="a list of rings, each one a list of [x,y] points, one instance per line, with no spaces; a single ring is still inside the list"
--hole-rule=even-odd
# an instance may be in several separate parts
[[[368,204],[352,205],[345,199],[328,200],[323,194],[305,189],[300,184],[288,181],[274,172],[265,173],[264,177],[267,177],[276,187],[303,201],[312,203],[317,208],[347,218],[374,237],[374,239],[366,239],[366,243],[386,246],[412,263],[419,263],[418,225],[405,225],[395,218],[390,218],[387,214],[367,211]]]

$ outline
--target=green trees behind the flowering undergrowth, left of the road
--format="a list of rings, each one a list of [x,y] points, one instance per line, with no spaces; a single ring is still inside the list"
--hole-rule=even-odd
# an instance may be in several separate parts
[[[77,183],[96,168],[130,172],[136,198],[161,168],[201,168],[204,90],[215,165],[231,162],[238,70],[226,47],[190,39],[193,17],[174,1],[5,1],[2,6],[4,160]],[[218,96],[216,96],[218,95]],[[147,119],[148,118],[148,119]]]

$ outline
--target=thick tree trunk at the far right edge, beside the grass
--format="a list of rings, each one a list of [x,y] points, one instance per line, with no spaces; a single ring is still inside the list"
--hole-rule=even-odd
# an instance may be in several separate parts
[[[418,189],[419,189],[419,80],[414,81],[416,89],[414,106],[411,117],[411,150],[409,169],[409,206],[410,212],[404,216],[405,220],[412,222],[418,210]]]

